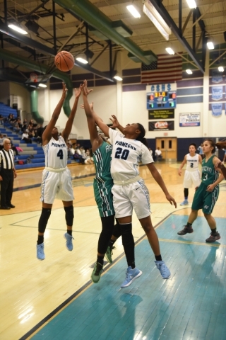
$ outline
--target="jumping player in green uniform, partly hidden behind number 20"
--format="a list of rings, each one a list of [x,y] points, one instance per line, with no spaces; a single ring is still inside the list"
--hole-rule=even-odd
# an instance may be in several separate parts
[[[92,90],[88,90],[90,93]],[[88,121],[88,128],[90,132],[90,142],[93,151],[93,161],[96,169],[96,176],[93,182],[95,200],[99,210],[102,232],[98,240],[97,246],[97,261],[91,275],[93,283],[97,283],[100,280],[102,268],[104,265],[104,257],[107,250],[109,250],[107,260],[111,260],[111,249],[109,247],[109,241],[114,234],[114,238],[117,239],[121,236],[120,226],[117,224],[114,226],[114,208],[113,208],[113,196],[112,186],[113,179],[110,173],[110,163],[112,161],[112,145],[105,142],[97,132],[95,119],[93,117],[93,104],[91,106],[88,103],[87,97],[83,94],[85,114]],[[113,127],[119,128],[120,125],[117,119],[112,120]],[[133,237],[133,236],[132,236]],[[109,261],[111,263],[111,261]]]

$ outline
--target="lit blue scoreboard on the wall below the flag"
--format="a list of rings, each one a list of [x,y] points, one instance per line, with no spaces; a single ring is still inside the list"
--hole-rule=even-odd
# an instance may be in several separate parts
[[[147,95],[147,109],[176,108],[177,91],[150,92]]]

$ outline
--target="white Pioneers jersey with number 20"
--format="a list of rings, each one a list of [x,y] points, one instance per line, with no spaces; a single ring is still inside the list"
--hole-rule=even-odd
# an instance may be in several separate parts
[[[153,163],[148,147],[139,140],[125,138],[121,132],[109,128],[112,141],[111,174],[115,181],[126,181],[139,175],[138,163]]]

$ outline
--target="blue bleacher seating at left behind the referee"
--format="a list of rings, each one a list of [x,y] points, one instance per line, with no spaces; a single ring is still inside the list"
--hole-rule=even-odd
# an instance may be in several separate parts
[[[17,116],[17,112],[15,109],[10,108],[4,103],[0,103],[0,115],[3,115],[4,118],[8,118],[8,115],[13,113],[15,117]],[[37,138],[32,138],[32,144],[26,144],[23,140],[21,140],[21,133],[16,133],[12,131],[12,125],[8,123],[6,120],[3,124],[0,124],[0,132],[3,135],[11,138],[13,145],[15,147],[20,147],[23,149],[22,152],[19,152],[18,156],[15,155],[15,168],[16,169],[30,169],[30,168],[38,168],[44,167],[44,152],[40,145],[37,144]],[[32,158],[30,157],[32,155]],[[31,158],[31,163],[27,164],[27,159]],[[17,164],[18,161],[23,161],[24,164]],[[68,160],[68,164],[71,164],[71,159]]]

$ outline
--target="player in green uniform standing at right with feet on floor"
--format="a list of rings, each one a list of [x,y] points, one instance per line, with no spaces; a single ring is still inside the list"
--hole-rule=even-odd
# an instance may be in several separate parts
[[[192,229],[192,223],[197,218],[198,210],[202,209],[211,229],[210,237],[206,239],[206,242],[215,242],[220,239],[220,234],[217,232],[215,219],[211,213],[213,212],[215,203],[218,200],[219,183],[224,179],[224,176],[222,174],[219,176],[218,171],[215,169],[215,164],[218,164],[220,159],[215,156],[214,152],[215,143],[213,140],[205,140],[203,142],[203,153],[206,157],[202,162],[201,185],[196,188],[196,193],[191,205],[191,213],[189,215],[187,224],[184,225],[184,229],[182,229],[180,232],[177,232],[177,234],[181,236],[193,232],[194,230]]]

